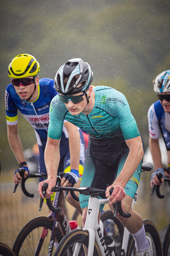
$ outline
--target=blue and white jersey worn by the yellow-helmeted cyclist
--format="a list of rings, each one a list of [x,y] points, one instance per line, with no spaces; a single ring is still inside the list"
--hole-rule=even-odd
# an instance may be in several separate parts
[[[34,102],[26,102],[17,95],[14,86],[9,84],[5,93],[6,121],[8,125],[17,125],[19,110],[34,128],[37,143],[42,146],[47,141],[49,108],[51,100],[57,95],[54,80],[42,78],[38,85],[38,97]],[[63,126],[61,139],[68,139],[68,132]]]

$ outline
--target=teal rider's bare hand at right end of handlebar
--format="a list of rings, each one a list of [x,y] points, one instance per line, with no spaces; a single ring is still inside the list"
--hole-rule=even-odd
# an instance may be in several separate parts
[[[118,185],[118,184],[116,185],[116,184],[113,183],[111,186],[107,187],[106,197],[108,197],[110,195],[109,190],[111,188],[114,188],[114,190],[111,194],[111,197],[109,198],[109,204],[110,205],[114,204],[116,201],[117,202],[121,201],[126,195],[125,189],[121,185]]]

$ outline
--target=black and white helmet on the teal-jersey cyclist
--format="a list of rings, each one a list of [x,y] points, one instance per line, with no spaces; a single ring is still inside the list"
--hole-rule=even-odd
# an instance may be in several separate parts
[[[57,92],[63,95],[85,93],[93,79],[90,65],[81,58],[73,58],[59,68],[54,85]]]

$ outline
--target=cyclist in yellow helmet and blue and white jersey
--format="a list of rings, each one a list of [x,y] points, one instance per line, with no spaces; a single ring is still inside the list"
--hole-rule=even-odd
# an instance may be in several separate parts
[[[51,100],[57,95],[57,91],[54,88],[54,80],[48,78],[39,80],[39,76],[37,76],[39,71],[38,61],[29,54],[17,55],[8,67],[11,84],[6,88],[5,105],[8,141],[19,164],[19,168],[13,176],[15,184],[20,183],[22,179],[19,173],[21,167],[26,170],[24,177],[29,173],[18,134],[17,110],[34,128],[40,152],[39,172],[46,173],[44,151],[47,142],[49,108],[50,103],[54,104]],[[65,120],[59,147],[58,168],[59,172],[63,172],[63,170],[66,172],[63,178],[65,186],[79,182],[85,161],[84,149],[85,142],[81,129],[77,129],[75,125]],[[66,199],[81,212],[79,203],[74,201],[70,194]]]

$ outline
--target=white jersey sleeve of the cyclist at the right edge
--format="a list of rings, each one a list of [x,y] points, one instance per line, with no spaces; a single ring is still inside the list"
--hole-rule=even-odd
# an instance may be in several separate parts
[[[147,112],[149,136],[152,139],[159,138],[159,120],[156,116],[154,103],[150,106]]]

